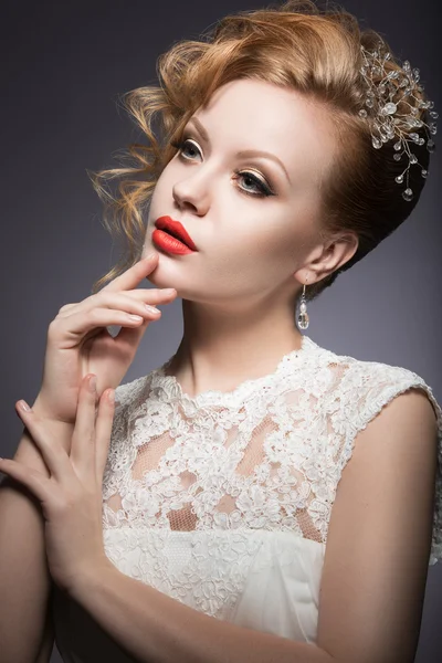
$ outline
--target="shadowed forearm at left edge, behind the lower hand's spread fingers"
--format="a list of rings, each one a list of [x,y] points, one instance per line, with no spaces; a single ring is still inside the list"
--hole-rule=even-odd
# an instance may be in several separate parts
[[[71,443],[71,427],[54,422]],[[49,476],[24,429],[14,459]],[[2,663],[34,663],[43,642],[51,589],[38,501],[6,477],[0,484],[0,642]]]

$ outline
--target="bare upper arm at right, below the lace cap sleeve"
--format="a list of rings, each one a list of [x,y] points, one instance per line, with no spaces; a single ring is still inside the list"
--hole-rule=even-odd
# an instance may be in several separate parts
[[[425,391],[360,431],[332,509],[317,645],[339,663],[412,663],[430,557],[438,423]]]

